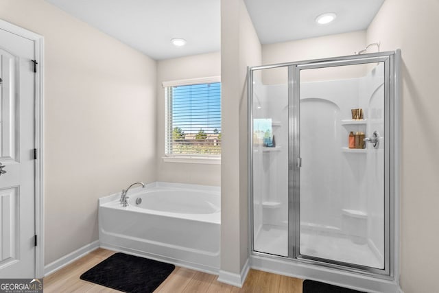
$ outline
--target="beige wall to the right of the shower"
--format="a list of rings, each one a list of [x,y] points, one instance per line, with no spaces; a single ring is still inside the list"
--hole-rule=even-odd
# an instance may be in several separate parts
[[[386,0],[367,43],[402,52],[401,288],[438,292],[439,2]]]

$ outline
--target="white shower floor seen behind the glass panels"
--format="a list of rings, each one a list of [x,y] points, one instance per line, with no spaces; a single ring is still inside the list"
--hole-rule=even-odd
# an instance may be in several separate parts
[[[288,256],[288,231],[284,226],[263,225],[254,241],[254,250]],[[355,244],[347,237],[329,233],[300,233],[300,254],[361,266],[382,268],[383,260],[368,244]]]

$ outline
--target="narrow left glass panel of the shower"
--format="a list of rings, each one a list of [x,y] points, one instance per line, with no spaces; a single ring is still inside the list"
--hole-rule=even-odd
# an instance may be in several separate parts
[[[288,255],[288,71],[252,72],[253,250]]]

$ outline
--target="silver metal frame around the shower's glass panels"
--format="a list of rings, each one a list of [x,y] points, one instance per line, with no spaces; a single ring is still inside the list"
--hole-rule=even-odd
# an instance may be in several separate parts
[[[249,193],[249,254],[278,260],[308,263],[380,279],[398,279],[395,266],[399,263],[399,71],[401,51],[386,51],[286,62],[274,65],[248,67],[248,193]],[[300,255],[300,70],[384,63],[384,269],[359,266],[331,259]],[[257,70],[287,67],[288,69],[288,257],[254,251],[253,231],[253,73]],[[397,270],[397,269],[396,269]]]

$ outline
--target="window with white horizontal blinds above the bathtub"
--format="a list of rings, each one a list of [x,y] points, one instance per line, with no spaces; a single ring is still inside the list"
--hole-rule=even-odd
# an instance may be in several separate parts
[[[171,84],[170,86],[166,86]],[[219,78],[164,82],[165,154],[219,158],[221,83]]]

